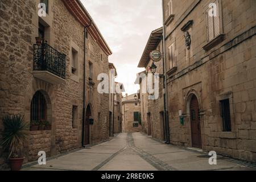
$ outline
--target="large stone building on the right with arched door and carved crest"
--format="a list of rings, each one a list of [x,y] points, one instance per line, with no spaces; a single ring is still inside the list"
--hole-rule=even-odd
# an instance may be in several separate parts
[[[170,142],[255,162],[256,1],[164,0],[163,13]]]

